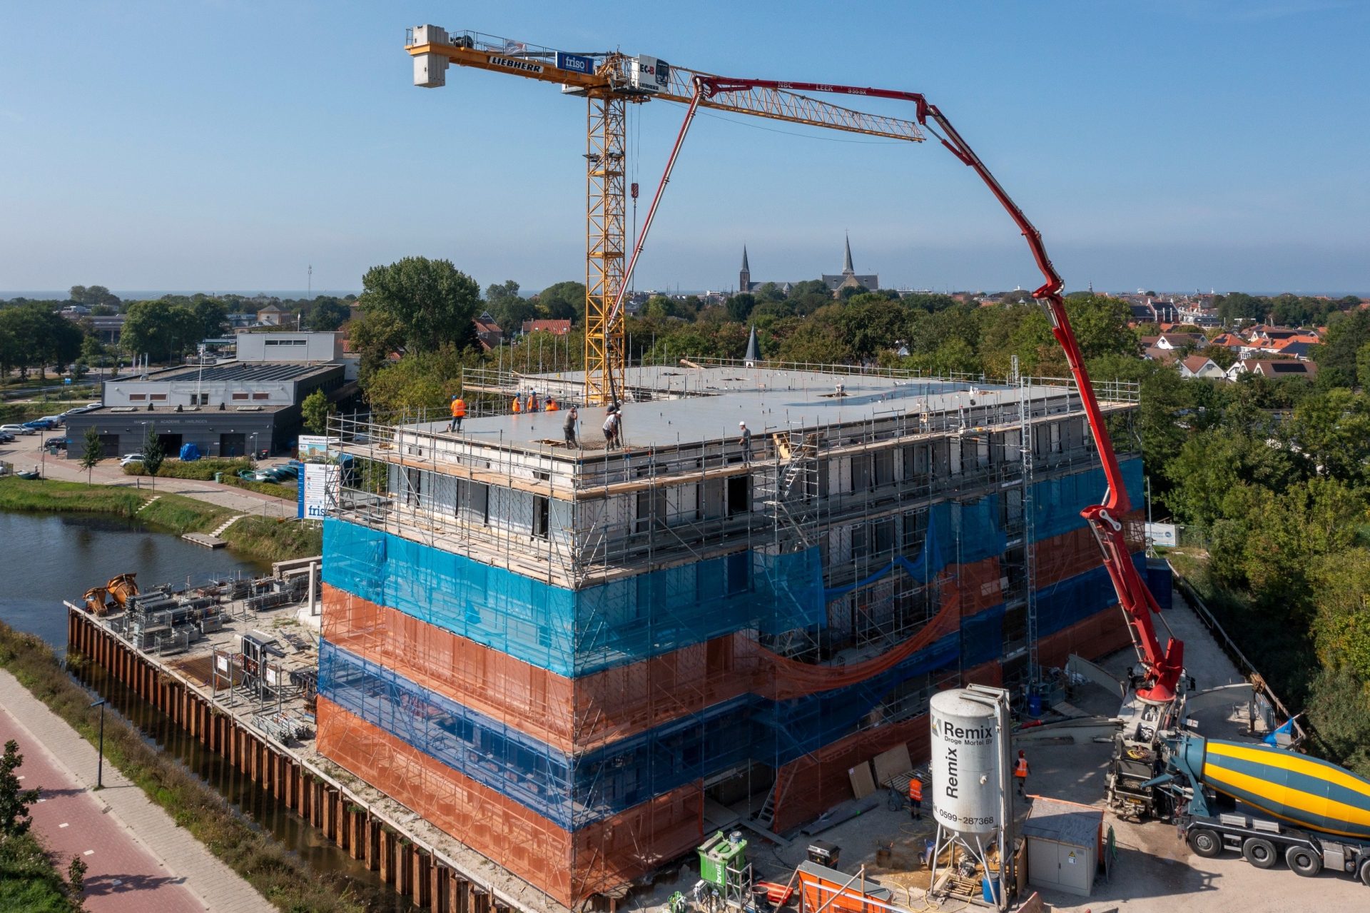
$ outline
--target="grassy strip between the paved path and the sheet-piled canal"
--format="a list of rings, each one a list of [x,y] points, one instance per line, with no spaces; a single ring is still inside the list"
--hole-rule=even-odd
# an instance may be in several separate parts
[[[81,662],[79,655],[67,657],[71,666]],[[41,639],[0,624],[0,668],[14,674],[86,742],[95,743],[99,710],[90,707],[90,692],[58,665],[51,647]],[[214,788],[114,714],[105,717],[104,759],[277,908],[300,913],[360,913],[369,908],[371,891],[342,876],[311,871],[279,840],[237,813]]]

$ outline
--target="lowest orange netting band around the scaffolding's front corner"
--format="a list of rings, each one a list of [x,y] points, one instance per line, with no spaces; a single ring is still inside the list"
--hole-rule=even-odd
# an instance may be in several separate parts
[[[703,839],[692,783],[580,831],[564,831],[321,696],[319,751],[558,903],[614,891]]]

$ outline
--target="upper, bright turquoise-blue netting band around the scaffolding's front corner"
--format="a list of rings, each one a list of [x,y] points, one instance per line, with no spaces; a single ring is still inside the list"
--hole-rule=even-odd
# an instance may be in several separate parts
[[[578,591],[333,518],[323,555],[333,587],[569,677],[826,618],[818,548],[743,551]]]

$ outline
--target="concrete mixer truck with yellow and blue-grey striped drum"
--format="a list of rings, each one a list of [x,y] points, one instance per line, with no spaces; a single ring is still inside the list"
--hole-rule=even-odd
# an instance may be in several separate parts
[[[1212,858],[1240,853],[1260,869],[1344,872],[1370,886],[1370,780],[1334,764],[1263,744],[1180,735],[1167,744],[1177,824]]]

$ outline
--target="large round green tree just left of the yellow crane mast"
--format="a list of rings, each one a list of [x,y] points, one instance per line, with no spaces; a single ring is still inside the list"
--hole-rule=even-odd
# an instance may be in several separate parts
[[[433,352],[444,344],[477,345],[480,287],[451,260],[407,256],[389,266],[373,266],[362,277],[363,313],[389,318],[404,345]]]

